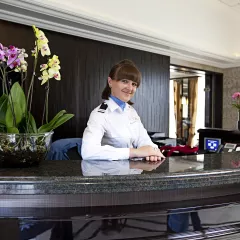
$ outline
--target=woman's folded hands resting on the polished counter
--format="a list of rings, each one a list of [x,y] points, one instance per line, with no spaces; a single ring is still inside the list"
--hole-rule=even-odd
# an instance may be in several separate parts
[[[131,148],[130,158],[134,157],[145,157],[147,161],[159,161],[165,158],[158,148],[152,146],[143,146],[137,149]]]

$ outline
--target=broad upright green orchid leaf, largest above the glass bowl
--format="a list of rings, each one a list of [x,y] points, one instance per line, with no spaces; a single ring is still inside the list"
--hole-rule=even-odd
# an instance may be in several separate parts
[[[8,100],[5,118],[6,126],[7,128],[17,127],[24,118],[27,110],[26,97],[18,82],[13,84]],[[14,125],[14,116],[12,111],[14,111],[16,126]]]

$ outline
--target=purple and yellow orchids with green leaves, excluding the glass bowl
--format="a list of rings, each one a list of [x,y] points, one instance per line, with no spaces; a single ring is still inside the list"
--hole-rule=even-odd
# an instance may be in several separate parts
[[[30,78],[27,76],[28,54],[25,49],[15,46],[5,47],[0,43],[0,80],[3,94],[0,97],[0,132],[5,133],[45,133],[59,127],[74,115],[60,111],[51,121],[48,121],[48,96],[50,79],[61,80],[60,61],[57,55],[51,55],[48,39],[43,31],[33,26],[35,47],[32,50],[34,57],[33,71]],[[40,75],[37,76],[38,58],[48,57],[45,64],[40,65]],[[12,84],[9,73],[17,72],[21,81]],[[29,80],[28,87],[24,88],[25,80]],[[37,128],[35,119],[31,114],[34,82],[36,79],[45,85],[45,101],[43,106],[42,123]],[[27,81],[26,81],[27,82]]]

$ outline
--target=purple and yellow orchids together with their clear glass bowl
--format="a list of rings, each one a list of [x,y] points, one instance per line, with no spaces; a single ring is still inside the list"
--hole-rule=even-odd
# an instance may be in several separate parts
[[[0,162],[7,166],[31,166],[45,158],[50,148],[53,130],[74,115],[60,111],[52,120],[48,119],[49,80],[61,80],[58,56],[51,55],[48,39],[43,31],[33,26],[35,48],[31,77],[27,77],[27,61],[24,49],[15,46],[4,47],[0,43]],[[40,65],[40,76],[36,74],[39,56],[47,56]],[[9,74],[17,72],[20,82],[11,83]],[[45,85],[45,102],[41,126],[37,126],[31,113],[34,82],[38,78]],[[28,80],[28,86],[26,86]],[[25,82],[26,81],[26,82]]]

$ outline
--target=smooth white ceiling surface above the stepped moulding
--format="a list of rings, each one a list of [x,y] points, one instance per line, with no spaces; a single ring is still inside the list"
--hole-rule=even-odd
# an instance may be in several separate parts
[[[240,14],[218,0],[46,0],[44,4],[223,56],[240,53]]]

